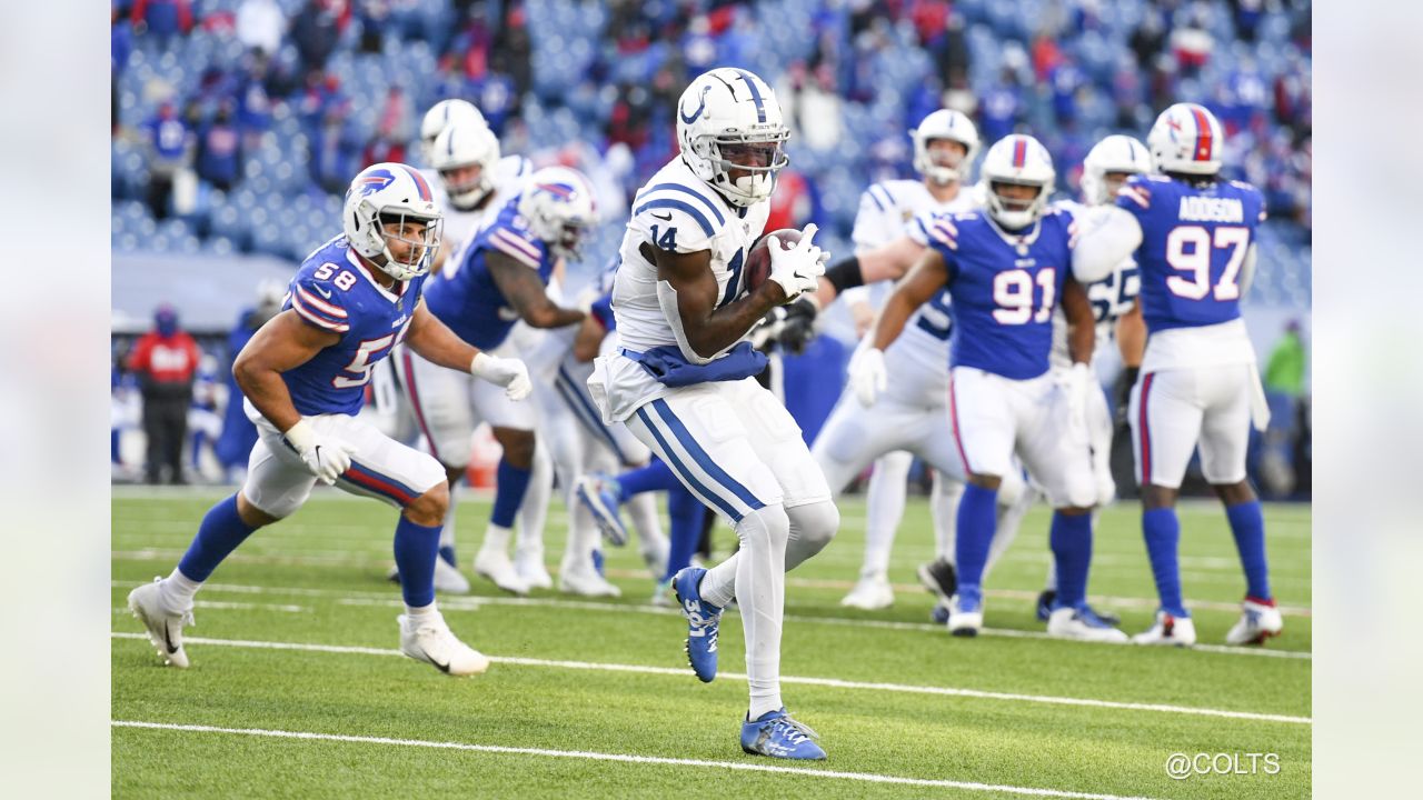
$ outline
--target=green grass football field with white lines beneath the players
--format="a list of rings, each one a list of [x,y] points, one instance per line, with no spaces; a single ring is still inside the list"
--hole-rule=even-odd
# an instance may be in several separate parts
[[[451,628],[494,656],[451,679],[397,653],[398,591],[384,581],[394,512],[317,493],[249,540],[198,598],[192,668],[161,666],[124,606],[166,575],[221,494],[114,490],[112,790],[120,797],[1306,797],[1311,789],[1311,588],[1306,507],[1268,507],[1285,635],[1220,646],[1244,584],[1224,514],[1181,510],[1194,651],[1046,639],[1033,598],[1047,568],[1035,511],[989,579],[983,636],[928,623],[915,565],[932,557],[912,498],[895,544],[895,605],[840,606],[859,567],[864,505],[841,504],[838,538],[788,577],[781,670],[787,705],[830,760],[747,756],[741,625],[721,629],[714,683],[692,676],[686,626],[646,604],[635,547],[608,554],[619,601],[475,581],[441,598]],[[484,501],[461,507],[474,555]],[[562,552],[561,507],[548,561]],[[733,534],[719,531],[719,547]],[[470,574],[468,564],[464,564]],[[1137,522],[1101,515],[1093,602],[1127,632],[1148,626],[1154,588]],[[1173,780],[1173,753],[1237,753],[1237,774]],[[1247,774],[1247,753],[1274,753]],[[1205,763],[1205,759],[1202,759]],[[1228,767],[1225,760],[1217,762]]]

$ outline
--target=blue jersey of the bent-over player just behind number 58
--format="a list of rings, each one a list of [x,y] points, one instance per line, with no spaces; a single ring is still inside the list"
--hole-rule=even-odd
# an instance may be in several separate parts
[[[485,263],[491,252],[512,258],[538,272],[546,285],[554,273],[554,256],[548,246],[528,231],[519,216],[518,198],[511,199],[499,215],[470,242],[451,272],[445,269],[430,282],[425,303],[450,330],[481,350],[498,347],[519,315],[499,292],[494,275]]]

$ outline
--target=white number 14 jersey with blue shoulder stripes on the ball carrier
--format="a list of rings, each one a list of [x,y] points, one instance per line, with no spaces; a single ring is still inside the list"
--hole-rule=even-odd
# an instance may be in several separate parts
[[[619,248],[620,265],[613,282],[612,307],[618,320],[618,346],[643,353],[653,347],[680,347],[693,359],[676,309],[666,312],[657,295],[657,265],[647,259],[653,248],[677,253],[710,251],[717,306],[746,290],[743,265],[751,243],[761,235],[770,204],[740,208],[726,202],[706,181],[672,159],[638,192],[628,232]],[[719,353],[720,354],[720,353]],[[620,354],[598,359],[589,391],[609,424],[628,419],[639,406],[666,393],[636,362]]]

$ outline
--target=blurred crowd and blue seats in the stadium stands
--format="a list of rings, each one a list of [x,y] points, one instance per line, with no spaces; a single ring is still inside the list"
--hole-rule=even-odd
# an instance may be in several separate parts
[[[1261,290],[1308,305],[1308,0],[112,0],[117,251],[299,258],[350,175],[418,161],[418,115],[474,101],[507,152],[628,196],[676,149],[687,80],[723,64],[776,85],[794,125],[771,226],[848,239],[868,182],[909,174],[939,107],[986,141],[1030,131],[1076,189],[1087,148],[1173,101],[1228,130],[1259,185]],[[295,212],[295,215],[293,215]],[[273,231],[277,215],[296,219]],[[620,219],[591,248],[615,249]]]

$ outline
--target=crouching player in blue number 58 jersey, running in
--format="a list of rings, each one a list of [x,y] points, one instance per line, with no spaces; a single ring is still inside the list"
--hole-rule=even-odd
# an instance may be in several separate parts
[[[396,562],[404,581],[400,651],[450,675],[490,660],[450,632],[435,608],[434,567],[450,490],[440,464],[356,419],[371,367],[404,342],[450,370],[497,384],[509,400],[529,393],[514,359],[478,350],[450,332],[421,290],[440,245],[440,209],[428,182],[404,164],[363,169],[346,192],[344,232],[292,279],[283,310],[258,330],[232,372],[258,426],[242,490],[213,505],[178,567],[139,586],[128,606],[161,656],[188,666],[182,629],[194,595],[253,531],[289,517],[320,480],[401,510]]]

